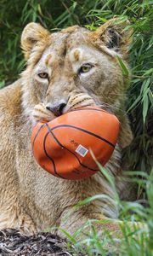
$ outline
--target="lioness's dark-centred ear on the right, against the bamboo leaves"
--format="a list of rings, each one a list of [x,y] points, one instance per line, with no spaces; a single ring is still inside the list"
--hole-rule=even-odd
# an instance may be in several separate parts
[[[94,41],[102,44],[102,47],[108,49],[112,55],[118,53],[126,60],[133,34],[133,29],[129,25],[128,20],[122,21],[118,18],[109,20],[94,32]]]

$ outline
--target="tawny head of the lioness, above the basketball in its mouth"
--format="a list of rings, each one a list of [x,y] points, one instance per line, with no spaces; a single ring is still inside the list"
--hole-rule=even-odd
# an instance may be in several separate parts
[[[23,108],[32,121],[99,105],[120,119],[122,147],[131,142],[123,108],[128,78],[116,59],[119,55],[127,61],[132,33],[125,30],[127,24],[113,19],[94,32],[71,26],[54,33],[37,23],[26,26],[21,37],[27,61],[22,73]]]

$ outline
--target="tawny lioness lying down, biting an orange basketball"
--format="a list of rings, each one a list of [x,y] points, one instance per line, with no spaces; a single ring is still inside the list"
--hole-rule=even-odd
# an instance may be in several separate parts
[[[71,26],[50,33],[30,23],[21,36],[27,67],[14,84],[0,91],[0,229],[33,233],[56,226],[73,234],[89,218],[117,218],[114,192],[99,172],[81,181],[54,177],[31,153],[31,130],[37,120],[51,120],[71,109],[99,105],[120,120],[120,135],[105,165],[122,197],[122,148],[132,141],[124,111],[128,79],[116,55],[127,61],[131,31],[127,22],[109,20],[96,31]],[[111,197],[74,208],[88,196]],[[66,219],[66,216],[69,216]],[[114,229],[113,224],[109,228]]]

